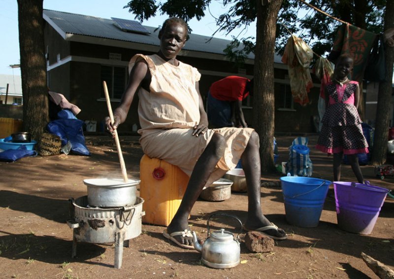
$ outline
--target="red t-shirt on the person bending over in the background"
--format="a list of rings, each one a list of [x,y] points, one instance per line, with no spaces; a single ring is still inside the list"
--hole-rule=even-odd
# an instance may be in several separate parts
[[[209,88],[212,97],[220,101],[242,101],[249,95],[249,91],[245,92],[246,82],[249,79],[229,76],[214,82]]]

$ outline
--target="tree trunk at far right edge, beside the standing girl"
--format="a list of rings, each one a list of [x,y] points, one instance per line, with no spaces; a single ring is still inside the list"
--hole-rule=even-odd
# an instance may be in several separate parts
[[[385,31],[394,28],[394,1],[387,1]],[[376,108],[375,136],[371,164],[382,165],[386,162],[387,141],[390,125],[391,95],[393,93],[394,48],[385,43],[386,81],[379,84],[378,104]]]

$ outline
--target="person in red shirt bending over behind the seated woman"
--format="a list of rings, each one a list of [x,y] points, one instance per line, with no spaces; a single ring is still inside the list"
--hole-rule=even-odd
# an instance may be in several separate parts
[[[229,76],[214,82],[208,91],[208,121],[215,128],[248,127],[242,101],[253,95],[253,79]]]

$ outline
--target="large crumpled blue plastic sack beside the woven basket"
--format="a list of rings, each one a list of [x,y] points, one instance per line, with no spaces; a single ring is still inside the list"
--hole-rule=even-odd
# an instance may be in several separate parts
[[[90,156],[91,154],[85,145],[83,124],[84,122],[79,119],[57,119],[49,122],[46,129],[49,133],[60,137],[62,146],[69,142],[72,153]]]

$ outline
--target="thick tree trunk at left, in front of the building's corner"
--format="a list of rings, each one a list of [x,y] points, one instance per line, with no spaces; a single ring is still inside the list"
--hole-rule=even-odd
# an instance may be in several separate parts
[[[43,0],[18,0],[23,126],[39,140],[48,123]]]

